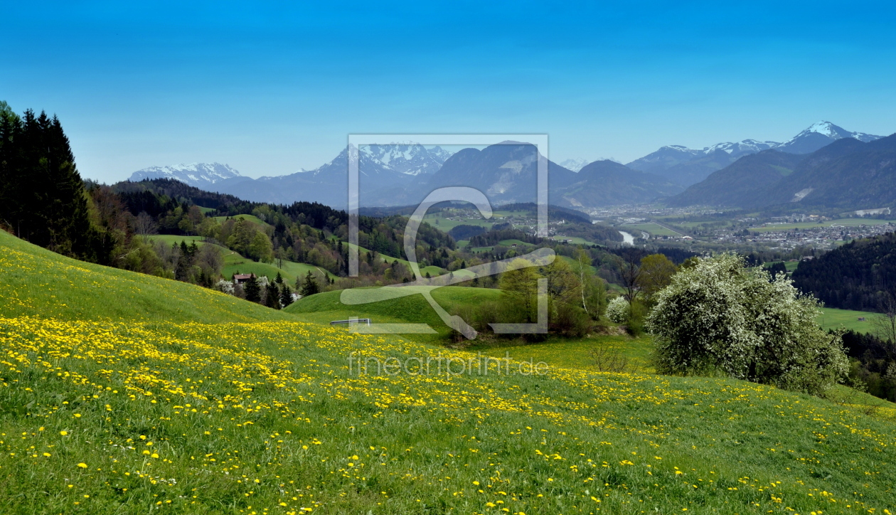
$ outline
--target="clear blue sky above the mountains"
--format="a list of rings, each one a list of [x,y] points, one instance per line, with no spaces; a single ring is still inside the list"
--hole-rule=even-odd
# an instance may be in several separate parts
[[[887,4],[0,4],[0,99],[56,113],[83,176],[274,176],[349,133],[547,133],[550,158],[896,132]]]

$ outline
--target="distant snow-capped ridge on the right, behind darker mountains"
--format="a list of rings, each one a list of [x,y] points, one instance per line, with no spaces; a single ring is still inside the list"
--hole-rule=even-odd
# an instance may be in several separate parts
[[[650,172],[667,177],[679,185],[694,185],[712,172],[727,167],[746,155],[762,150],[780,150],[791,154],[807,154],[842,138],[855,138],[860,142],[873,142],[881,136],[866,133],[852,133],[831,122],[818,122],[798,133],[787,142],[742,142],[716,143],[702,149],[688,149],[681,145],[667,145],[655,152],[628,163],[642,172]]]

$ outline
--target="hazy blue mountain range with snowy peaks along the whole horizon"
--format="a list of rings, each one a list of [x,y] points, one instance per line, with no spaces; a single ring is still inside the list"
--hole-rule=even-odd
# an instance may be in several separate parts
[[[744,140],[701,150],[670,145],[627,165],[609,159],[585,165],[584,159],[567,159],[563,164],[548,161],[549,199],[579,209],[666,197],[671,197],[669,202],[674,205],[755,205],[771,198],[763,188],[777,182],[785,173],[781,170],[793,170],[806,154],[832,142],[879,139],[819,122],[787,142]],[[401,142],[364,146],[358,156],[363,206],[416,204],[433,189],[448,185],[476,187],[493,203],[535,201],[538,154],[525,143],[504,142],[452,153],[441,147]],[[254,202],[321,202],[337,209],[348,204],[346,150],[321,167],[286,176],[253,179],[227,165],[194,163],[144,168],[130,180],[159,177]]]

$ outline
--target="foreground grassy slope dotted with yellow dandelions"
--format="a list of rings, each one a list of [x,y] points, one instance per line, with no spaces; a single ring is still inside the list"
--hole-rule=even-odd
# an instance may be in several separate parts
[[[164,322],[171,303],[208,322],[262,308],[11,236],[0,245],[16,281],[0,313],[88,319],[0,320],[6,512],[809,514],[896,502],[896,429],[853,408],[728,379],[518,364],[353,375],[351,352],[472,355],[289,318]],[[49,288],[145,300],[94,322],[99,308],[60,312]]]

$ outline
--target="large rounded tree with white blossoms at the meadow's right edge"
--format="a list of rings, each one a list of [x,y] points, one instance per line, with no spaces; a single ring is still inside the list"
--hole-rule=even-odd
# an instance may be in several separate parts
[[[647,326],[660,373],[725,373],[817,395],[847,372],[840,334],[815,322],[818,301],[736,254],[681,270],[656,302]]]

